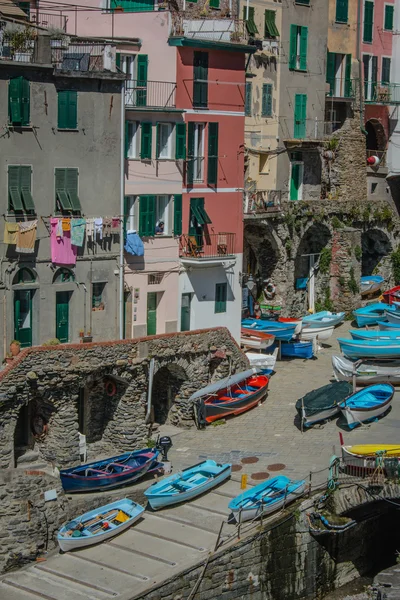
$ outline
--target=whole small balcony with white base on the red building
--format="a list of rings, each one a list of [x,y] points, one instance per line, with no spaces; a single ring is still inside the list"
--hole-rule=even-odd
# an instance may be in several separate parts
[[[215,266],[235,257],[235,233],[181,235],[179,256],[194,267]]]

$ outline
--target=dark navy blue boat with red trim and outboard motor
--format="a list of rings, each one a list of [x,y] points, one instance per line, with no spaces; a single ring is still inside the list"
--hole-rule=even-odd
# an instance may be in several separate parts
[[[60,471],[65,492],[109,490],[133,483],[157,465],[157,448],[125,452],[111,458]]]

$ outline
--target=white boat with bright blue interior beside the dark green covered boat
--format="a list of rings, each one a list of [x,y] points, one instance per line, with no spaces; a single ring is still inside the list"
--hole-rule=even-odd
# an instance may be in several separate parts
[[[392,403],[394,387],[390,383],[376,383],[352,394],[339,404],[350,429],[385,414]]]

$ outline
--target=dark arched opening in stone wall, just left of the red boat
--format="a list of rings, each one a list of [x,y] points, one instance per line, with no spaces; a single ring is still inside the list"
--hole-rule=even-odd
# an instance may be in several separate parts
[[[154,423],[163,425],[164,423],[176,424],[178,418],[174,419],[171,409],[174,406],[176,398],[179,396],[182,385],[188,380],[185,370],[176,364],[161,367],[153,379],[153,390],[151,402],[153,407]]]

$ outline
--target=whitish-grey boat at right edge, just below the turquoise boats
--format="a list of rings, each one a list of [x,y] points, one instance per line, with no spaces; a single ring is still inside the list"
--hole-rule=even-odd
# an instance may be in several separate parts
[[[332,356],[332,366],[337,381],[352,381],[353,373],[356,385],[364,386],[373,383],[391,383],[400,385],[400,360],[351,361],[344,356]]]

